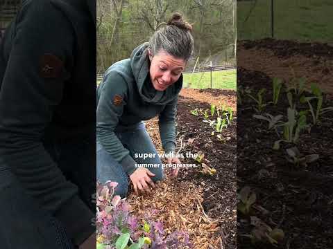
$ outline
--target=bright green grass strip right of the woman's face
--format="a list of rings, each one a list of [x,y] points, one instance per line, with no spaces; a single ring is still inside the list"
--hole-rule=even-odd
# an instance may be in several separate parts
[[[183,77],[183,87],[193,89],[210,87],[210,72],[184,73]],[[212,72],[212,88],[236,90],[236,69]]]

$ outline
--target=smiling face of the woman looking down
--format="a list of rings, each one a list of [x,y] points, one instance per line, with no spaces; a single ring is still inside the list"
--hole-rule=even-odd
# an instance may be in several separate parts
[[[164,91],[179,79],[186,62],[184,59],[173,57],[163,50],[153,57],[148,51],[148,55],[151,60],[151,68],[149,69],[151,82],[157,91]]]

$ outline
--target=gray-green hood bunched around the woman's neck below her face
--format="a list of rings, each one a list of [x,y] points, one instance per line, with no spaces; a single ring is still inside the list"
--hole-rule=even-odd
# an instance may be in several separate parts
[[[167,104],[177,98],[182,89],[182,75],[164,91],[156,91],[149,75],[150,62],[146,53],[148,42],[137,46],[130,55],[130,66],[135,77],[139,95],[144,102],[151,104]]]

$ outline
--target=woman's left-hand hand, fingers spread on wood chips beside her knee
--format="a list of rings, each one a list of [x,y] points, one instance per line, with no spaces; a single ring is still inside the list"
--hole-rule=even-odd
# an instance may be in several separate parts
[[[138,195],[139,192],[142,194],[150,193],[151,189],[149,188],[149,185],[151,187],[155,187],[153,180],[151,180],[151,177],[153,176],[155,176],[155,174],[153,174],[149,169],[144,167],[136,169],[135,172],[130,175],[130,181],[133,183],[135,194]]]

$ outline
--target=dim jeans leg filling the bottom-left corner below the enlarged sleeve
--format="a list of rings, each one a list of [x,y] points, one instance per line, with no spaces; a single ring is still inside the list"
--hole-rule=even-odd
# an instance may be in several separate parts
[[[0,244],[3,249],[74,249],[63,225],[0,167]]]

